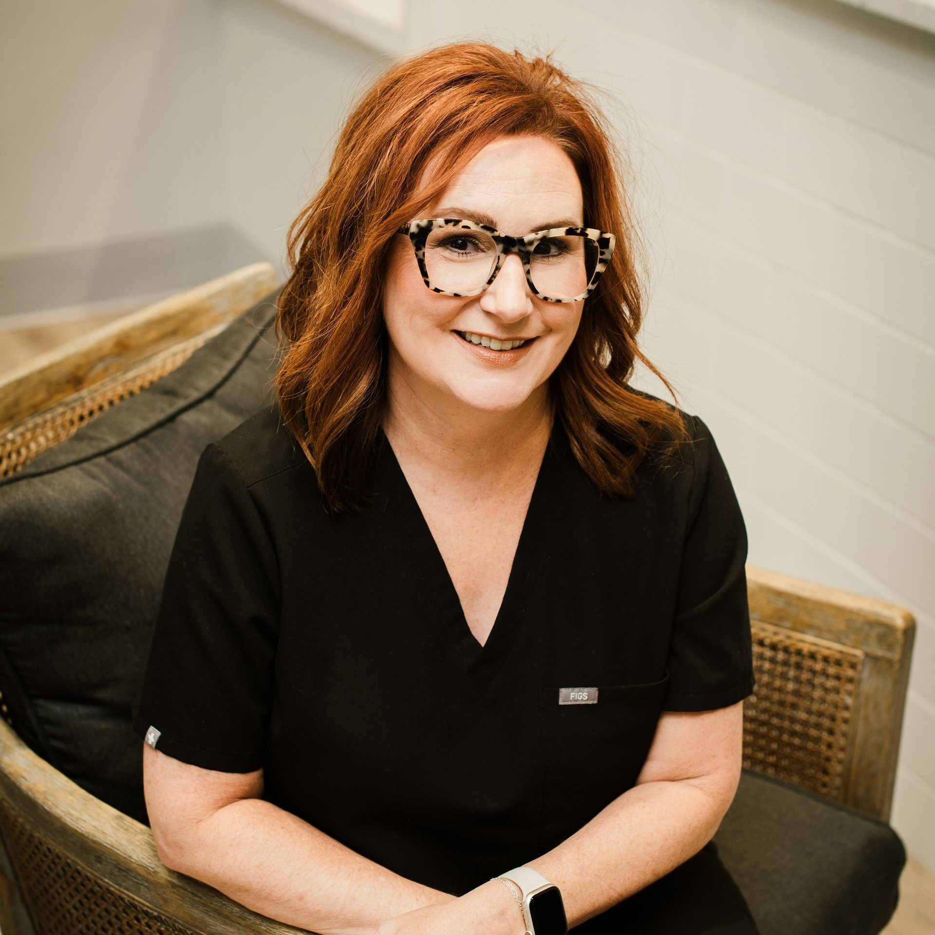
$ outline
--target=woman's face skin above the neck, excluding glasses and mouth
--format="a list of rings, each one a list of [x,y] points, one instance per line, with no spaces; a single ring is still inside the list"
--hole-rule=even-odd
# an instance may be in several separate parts
[[[429,165],[426,179],[431,171]],[[494,140],[424,216],[448,216],[442,209],[454,205],[490,215],[499,230],[514,237],[539,230],[554,218],[583,224],[582,189],[574,166],[557,145],[541,137]],[[533,295],[515,254],[505,259],[481,295],[433,293],[425,287],[408,239],[394,237],[383,300],[391,345],[389,381],[405,383],[412,396],[436,410],[538,409],[549,376],[578,330],[583,304],[583,299],[544,302]],[[538,340],[516,365],[496,367],[460,346],[454,330]]]

